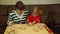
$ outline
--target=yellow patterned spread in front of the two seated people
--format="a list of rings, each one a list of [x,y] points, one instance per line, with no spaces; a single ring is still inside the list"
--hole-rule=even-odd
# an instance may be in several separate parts
[[[28,25],[28,24],[14,24],[7,26],[4,34],[49,34],[41,23]]]

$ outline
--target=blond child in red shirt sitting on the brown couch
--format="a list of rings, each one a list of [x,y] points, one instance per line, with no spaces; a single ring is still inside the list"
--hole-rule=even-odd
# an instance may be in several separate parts
[[[29,25],[36,24],[40,22],[40,12],[38,7],[34,7],[31,14],[27,17],[27,23]]]

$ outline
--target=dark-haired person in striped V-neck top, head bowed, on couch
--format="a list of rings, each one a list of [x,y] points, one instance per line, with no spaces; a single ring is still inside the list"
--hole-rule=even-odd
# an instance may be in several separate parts
[[[25,5],[23,4],[23,2],[18,1],[16,3],[16,10],[12,10],[9,13],[9,18],[8,18],[8,25],[12,25],[12,24],[23,24],[26,21],[26,17],[28,15],[28,11],[25,11]]]

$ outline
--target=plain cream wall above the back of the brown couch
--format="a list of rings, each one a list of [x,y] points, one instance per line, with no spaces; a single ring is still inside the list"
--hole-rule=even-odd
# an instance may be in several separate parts
[[[20,0],[0,0],[0,5],[14,5]],[[60,4],[60,0],[21,0],[26,5],[32,4]]]

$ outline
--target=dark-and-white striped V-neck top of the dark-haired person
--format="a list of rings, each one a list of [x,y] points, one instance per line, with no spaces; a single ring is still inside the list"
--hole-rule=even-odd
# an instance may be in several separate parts
[[[23,24],[26,22],[26,18],[29,14],[29,11],[24,11],[21,15],[16,13],[16,10],[13,10],[9,13],[8,22],[12,21],[15,24]]]

